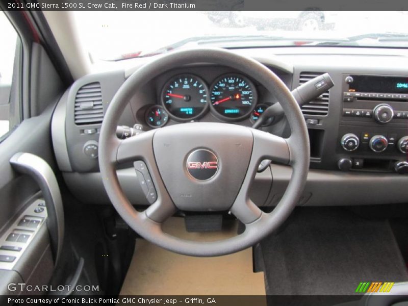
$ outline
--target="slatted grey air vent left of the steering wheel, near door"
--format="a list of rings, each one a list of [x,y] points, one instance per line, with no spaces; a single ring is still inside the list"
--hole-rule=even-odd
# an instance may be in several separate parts
[[[102,91],[100,83],[90,83],[82,86],[75,96],[75,124],[97,124],[104,119]]]

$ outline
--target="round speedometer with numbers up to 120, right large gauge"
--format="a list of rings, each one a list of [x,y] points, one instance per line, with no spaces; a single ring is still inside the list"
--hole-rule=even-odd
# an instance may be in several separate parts
[[[243,75],[227,74],[218,78],[211,87],[211,109],[227,120],[249,116],[257,104],[255,86]]]

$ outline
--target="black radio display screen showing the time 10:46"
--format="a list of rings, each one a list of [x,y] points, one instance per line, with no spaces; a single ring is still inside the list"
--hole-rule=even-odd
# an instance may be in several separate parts
[[[379,77],[374,75],[351,75],[350,91],[408,93],[408,77]]]

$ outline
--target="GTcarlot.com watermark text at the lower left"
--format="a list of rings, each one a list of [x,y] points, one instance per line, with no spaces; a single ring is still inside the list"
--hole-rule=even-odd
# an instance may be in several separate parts
[[[29,291],[29,292],[89,292],[89,291],[99,291],[99,285],[59,285],[59,286],[34,286],[34,285],[27,285],[25,283],[10,283],[7,285],[7,289],[9,291]]]

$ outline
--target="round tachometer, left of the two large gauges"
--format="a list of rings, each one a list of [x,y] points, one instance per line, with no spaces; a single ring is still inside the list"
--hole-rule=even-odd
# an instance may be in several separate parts
[[[187,121],[198,118],[208,108],[207,85],[193,74],[177,75],[164,86],[162,104],[174,119]]]

